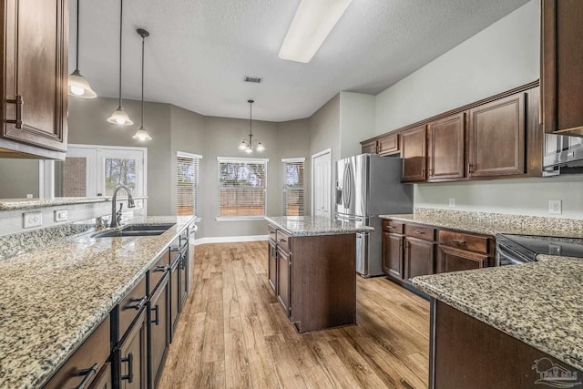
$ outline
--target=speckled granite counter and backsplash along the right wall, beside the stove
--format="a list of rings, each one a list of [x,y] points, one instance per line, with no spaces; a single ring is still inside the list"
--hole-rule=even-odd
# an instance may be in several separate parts
[[[570,238],[583,237],[583,220],[417,208],[407,215],[381,215],[384,219],[427,224],[443,229],[464,230],[485,235],[513,233]]]

